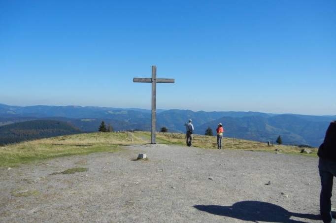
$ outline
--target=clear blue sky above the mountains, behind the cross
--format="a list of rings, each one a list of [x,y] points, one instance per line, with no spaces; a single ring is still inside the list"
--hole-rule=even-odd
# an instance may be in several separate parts
[[[335,0],[0,0],[0,103],[336,115]]]

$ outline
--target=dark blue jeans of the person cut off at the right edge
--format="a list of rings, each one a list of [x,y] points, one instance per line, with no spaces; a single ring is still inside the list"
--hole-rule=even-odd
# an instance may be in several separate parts
[[[320,158],[318,168],[321,177],[320,213],[323,222],[330,223],[332,221],[331,197],[333,191],[333,180],[336,176],[336,162]]]

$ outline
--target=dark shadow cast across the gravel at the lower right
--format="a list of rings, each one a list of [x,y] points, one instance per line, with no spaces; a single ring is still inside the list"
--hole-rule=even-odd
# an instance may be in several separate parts
[[[227,216],[251,222],[306,223],[291,220],[291,216],[321,220],[320,215],[293,213],[278,205],[262,201],[240,201],[232,206],[194,205],[194,207],[213,215]]]

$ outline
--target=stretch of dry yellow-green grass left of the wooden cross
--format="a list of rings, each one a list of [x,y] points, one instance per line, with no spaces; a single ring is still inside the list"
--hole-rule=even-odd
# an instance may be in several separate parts
[[[96,132],[39,139],[0,147],[0,166],[16,166],[40,159],[115,152],[119,144],[144,143],[127,132]]]

